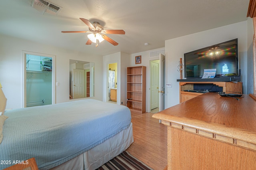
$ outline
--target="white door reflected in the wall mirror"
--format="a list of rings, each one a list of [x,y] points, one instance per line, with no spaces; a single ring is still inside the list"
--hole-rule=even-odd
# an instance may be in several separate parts
[[[73,98],[84,98],[84,70],[73,69]]]

